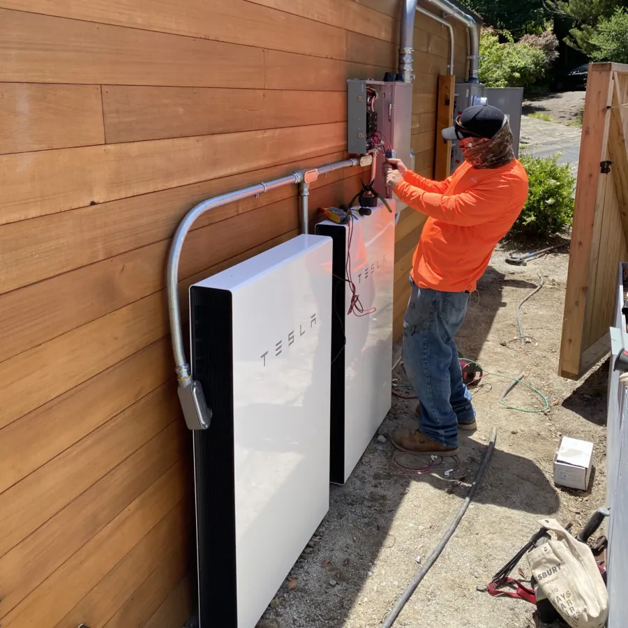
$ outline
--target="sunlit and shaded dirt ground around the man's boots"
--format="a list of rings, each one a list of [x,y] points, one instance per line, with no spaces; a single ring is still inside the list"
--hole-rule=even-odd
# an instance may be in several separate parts
[[[539,246],[539,248],[542,248]],[[493,427],[498,440],[474,502],[440,559],[396,622],[399,628],[529,628],[533,607],[521,600],[492,598],[477,590],[491,580],[553,516],[579,530],[605,502],[605,421],[608,364],[581,382],[558,376],[558,352],[567,280],[568,248],[526,267],[504,262],[512,246],[495,251],[472,295],[457,336],[461,355],[486,371],[516,377],[548,398],[550,410],[522,412],[498,399],[504,380],[485,373],[474,388],[476,433],[461,439],[461,465],[445,459],[433,472],[408,477],[394,464],[389,435],[411,425],[416,401],[392,397],[392,408],[345,486],[331,487],[329,514],[264,615],[260,628],[375,628],[438,544],[468,493]],[[522,308],[525,334],[517,337],[515,307],[544,276],[544,286]],[[403,366],[396,369],[403,384]],[[408,389],[398,388],[408,394]],[[543,408],[539,396],[519,384],[507,402]],[[553,455],[560,435],[594,442],[595,470],[588,491],[556,488]],[[380,439],[383,440],[383,439]],[[408,464],[407,458],[402,458]],[[306,490],[306,487],[304,487]],[[523,569],[527,569],[525,560]],[[526,571],[527,573],[527,571]],[[516,574],[515,574],[516,575]]]

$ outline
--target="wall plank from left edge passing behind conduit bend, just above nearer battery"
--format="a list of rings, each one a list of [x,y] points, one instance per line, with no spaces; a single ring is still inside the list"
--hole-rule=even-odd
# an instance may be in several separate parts
[[[324,180],[324,179],[323,179]],[[341,179],[313,188],[311,207],[348,201]],[[186,278],[231,260],[297,226],[297,197],[261,207],[253,216],[239,214],[188,234],[179,267]],[[165,287],[163,267],[170,240],[110,257],[0,295],[0,358],[9,359],[32,347],[114,312]],[[38,307],[41,299],[46,308]]]

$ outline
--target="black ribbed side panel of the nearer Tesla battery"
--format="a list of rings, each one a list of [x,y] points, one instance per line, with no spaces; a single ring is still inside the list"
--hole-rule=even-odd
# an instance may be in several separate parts
[[[213,415],[193,432],[200,628],[237,628],[232,295],[192,287],[192,373]]]

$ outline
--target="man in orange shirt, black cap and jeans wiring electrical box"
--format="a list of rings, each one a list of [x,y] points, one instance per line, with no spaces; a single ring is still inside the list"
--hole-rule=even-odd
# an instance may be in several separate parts
[[[419,397],[419,429],[401,428],[401,451],[456,456],[458,429],[476,427],[472,397],[463,382],[454,335],[470,293],[498,241],[528,197],[528,176],[512,149],[507,117],[497,107],[469,107],[442,131],[459,141],[464,163],[444,181],[384,163],[386,184],[412,209],[428,216],[412,260],[412,295],[403,319],[403,361]]]

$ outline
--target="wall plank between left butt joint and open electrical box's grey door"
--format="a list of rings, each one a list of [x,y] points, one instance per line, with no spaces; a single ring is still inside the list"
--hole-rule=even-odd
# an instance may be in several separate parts
[[[103,87],[107,143],[343,122],[339,91]]]

